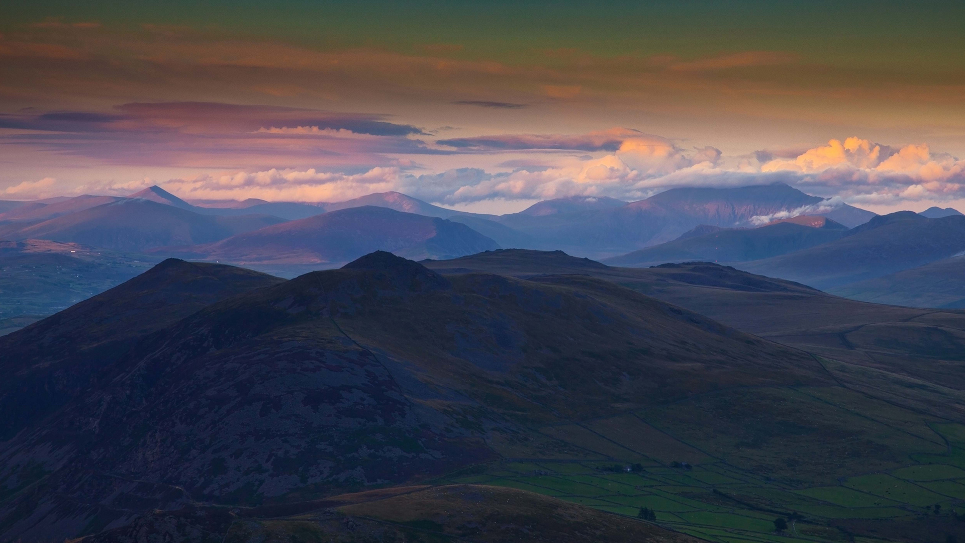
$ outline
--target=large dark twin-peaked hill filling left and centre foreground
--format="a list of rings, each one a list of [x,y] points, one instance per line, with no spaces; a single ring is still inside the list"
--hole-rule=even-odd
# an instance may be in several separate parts
[[[158,282],[146,275],[98,297],[102,311],[77,306],[90,313],[0,338],[5,353],[38,350],[3,358],[6,375],[25,376],[3,404],[4,539],[75,536],[195,500],[311,500],[501,457],[582,454],[555,437],[581,420],[731,388],[833,384],[804,353],[585,275],[443,277],[379,252],[171,325],[151,300],[194,281],[162,281],[128,322],[117,307]],[[138,325],[157,322],[166,328]],[[48,338],[42,350],[33,334]],[[71,337],[88,336],[103,347],[82,363]],[[83,394],[17,399],[42,382],[30,376],[58,374],[51,356]]]

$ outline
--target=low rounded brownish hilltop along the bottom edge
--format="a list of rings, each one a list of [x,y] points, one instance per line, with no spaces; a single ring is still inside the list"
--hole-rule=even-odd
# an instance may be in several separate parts
[[[524,490],[485,485],[406,486],[333,496],[288,507],[198,507],[155,512],[85,543],[184,540],[477,541],[503,543],[690,543],[699,539],[653,524]],[[287,514],[286,514],[287,513]],[[223,534],[223,535],[222,535]]]

